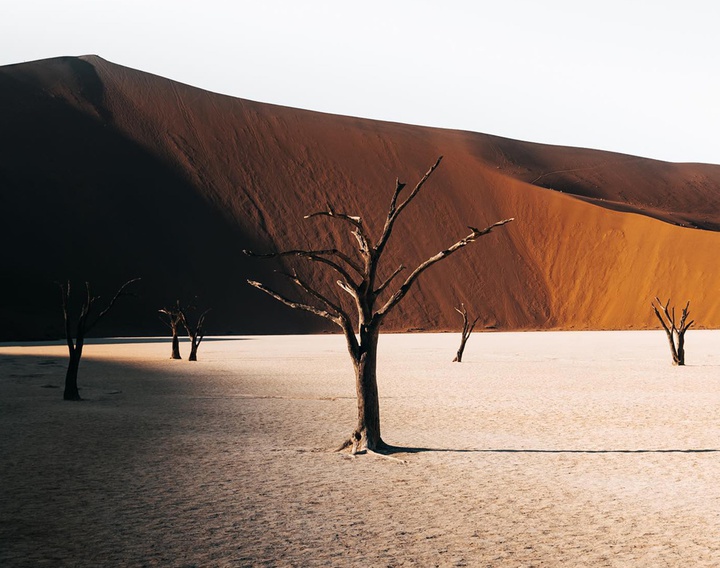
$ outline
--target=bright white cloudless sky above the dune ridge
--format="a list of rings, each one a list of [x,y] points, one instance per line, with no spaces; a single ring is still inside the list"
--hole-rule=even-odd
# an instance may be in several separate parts
[[[0,65],[96,54],[286,106],[720,164],[716,0],[6,0]]]

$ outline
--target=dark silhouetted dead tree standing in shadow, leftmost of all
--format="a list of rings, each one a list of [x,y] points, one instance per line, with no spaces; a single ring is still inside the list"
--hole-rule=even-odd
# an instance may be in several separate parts
[[[67,373],[65,374],[65,391],[63,392],[64,400],[82,400],[80,398],[80,392],[77,387],[77,373],[80,366],[80,358],[82,357],[83,346],[85,345],[86,334],[95,327],[101,319],[103,319],[110,309],[115,305],[115,302],[120,296],[124,296],[125,288],[127,288],[133,282],[140,280],[134,278],[128,280],[120,286],[120,289],[115,293],[112,300],[108,303],[104,310],[100,311],[96,316],[93,317],[93,308],[96,307],[96,302],[100,299],[99,296],[93,296],[90,293],[90,283],[85,282],[86,296],[83,301],[83,305],[80,309],[80,315],[78,316],[75,324],[75,339],[73,340],[72,322],[69,313],[70,304],[70,281],[68,280],[67,285],[58,283],[60,287],[62,297],[62,308],[63,316],[65,318],[65,337],[67,339],[68,351],[70,352],[70,361],[68,363]]]

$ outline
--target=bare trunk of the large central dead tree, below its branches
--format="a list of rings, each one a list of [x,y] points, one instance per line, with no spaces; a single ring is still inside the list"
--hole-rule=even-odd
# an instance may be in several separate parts
[[[379,329],[363,330],[360,334],[360,357],[355,364],[358,423],[352,435],[353,452],[380,450],[385,443],[380,437],[380,398],[377,388],[377,345]]]

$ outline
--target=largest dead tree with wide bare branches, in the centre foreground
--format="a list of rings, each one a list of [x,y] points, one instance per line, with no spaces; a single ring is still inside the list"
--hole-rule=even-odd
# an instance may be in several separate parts
[[[329,267],[340,277],[339,280],[337,280],[337,285],[347,292],[352,300],[354,308],[346,310],[346,308],[341,305],[341,302],[333,301],[328,297],[327,293],[317,290],[294,271],[292,274],[284,274],[284,276],[307,294],[308,297],[312,298],[312,301],[294,301],[260,282],[248,280],[250,285],[255,286],[291,308],[305,310],[332,321],[338,325],[345,334],[348,352],[350,353],[355,369],[357,427],[338,450],[352,448],[352,452],[357,453],[362,450],[383,451],[390,449],[390,446],[383,442],[380,435],[380,405],[376,375],[377,346],[380,327],[390,311],[405,297],[418,277],[433,264],[446,259],[466,245],[475,242],[495,227],[500,227],[512,221],[512,219],[505,219],[482,230],[469,227],[471,229],[469,235],[436,255],[431,256],[425,262],[422,262],[405,278],[392,295],[388,297],[386,293],[384,297],[387,299],[379,301],[381,294],[390,289],[393,281],[395,281],[397,276],[405,269],[404,266],[400,265],[383,278],[379,275],[380,260],[393,231],[393,227],[395,226],[395,222],[410,202],[418,195],[425,182],[440,164],[441,159],[442,156],[437,159],[435,164],[425,173],[414,189],[402,200],[400,196],[405,188],[405,184],[396,180],[395,192],[390,200],[387,218],[385,219],[382,233],[377,240],[371,238],[360,217],[340,213],[335,211],[330,205],[327,206],[326,211],[319,211],[305,216],[305,219],[312,217],[329,217],[334,221],[346,224],[357,241],[357,249],[352,256],[337,248],[288,250],[270,254],[255,254],[250,251],[245,251],[248,255],[260,258],[297,256]],[[351,316],[353,311],[355,313]],[[355,323],[357,327],[354,327]]]

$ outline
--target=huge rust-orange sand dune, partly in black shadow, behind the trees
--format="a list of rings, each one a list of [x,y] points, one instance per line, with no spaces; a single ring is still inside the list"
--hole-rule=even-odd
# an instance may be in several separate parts
[[[274,271],[297,267],[347,302],[331,273],[242,250],[353,250],[345,225],[303,216],[329,203],[378,235],[395,179],[440,155],[385,275],[516,220],[423,274],[386,330],[456,330],[461,302],[478,328],[656,327],[656,295],[720,325],[720,166],[261,104],[96,56],[0,68],[0,140],[0,339],[61,335],[55,281],[106,298],[136,276],[96,334],[162,333],[178,298],[213,308],[210,333],[333,330],[246,284],[292,291]]]

